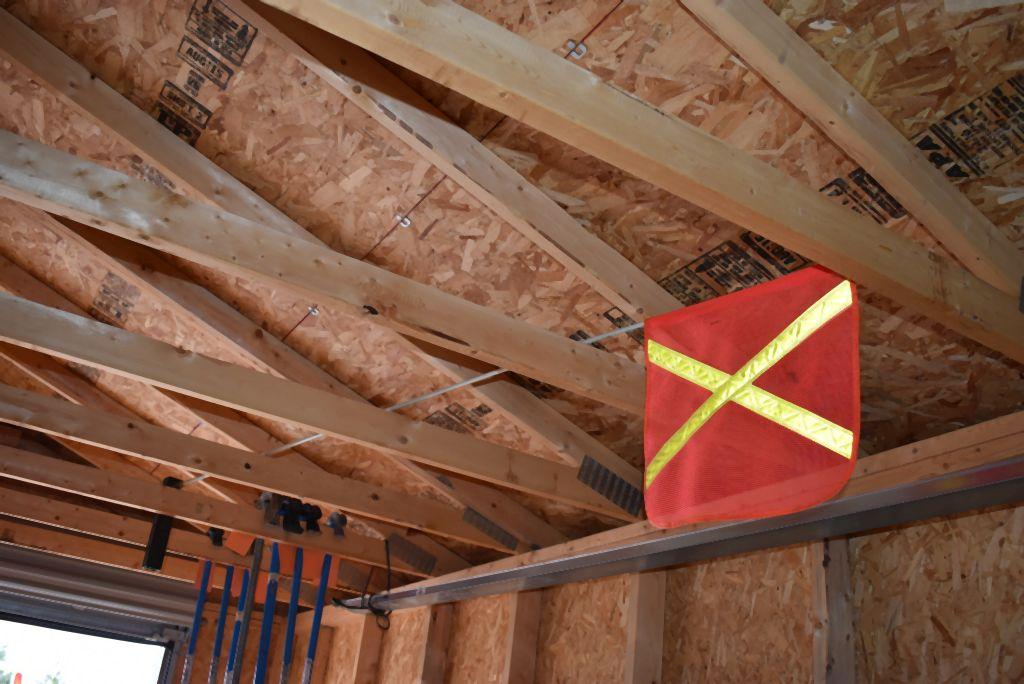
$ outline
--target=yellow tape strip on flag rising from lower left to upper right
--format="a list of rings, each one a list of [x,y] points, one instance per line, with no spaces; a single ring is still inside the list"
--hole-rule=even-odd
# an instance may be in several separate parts
[[[722,407],[729,401],[737,401],[736,397],[741,392],[743,392],[743,398],[745,400],[758,398],[753,396],[750,392],[744,392],[744,389],[750,387],[751,383],[764,375],[768,369],[777,364],[783,356],[797,348],[801,342],[813,335],[818,329],[848,308],[852,303],[853,289],[850,287],[849,282],[844,281],[840,285],[833,288],[818,301],[811,304],[807,310],[797,316],[793,323],[785,327],[785,330],[775,336],[775,339],[769,342],[764,349],[756,353],[750,360],[743,364],[742,368],[736,371],[735,374],[728,376],[724,382],[712,389],[711,396],[709,396],[705,402],[693,412],[693,415],[690,416],[685,423],[683,423],[682,427],[676,430],[675,434],[669,437],[669,439],[662,444],[657,454],[655,454],[654,458],[651,459],[651,462],[647,464],[647,469],[644,474],[645,487],[650,486],[651,482],[654,481],[654,478],[657,477],[658,473],[662,472],[665,466],[677,454],[679,454],[680,451],[682,451],[683,446],[686,445],[686,442],[688,442],[696,431],[703,427],[711,417],[718,413]],[[683,367],[686,367],[686,364],[682,364],[680,368]],[[675,372],[672,369],[666,370],[672,371],[673,373]],[[697,371],[698,375],[700,373],[700,371]],[[794,404],[790,404],[790,407],[803,411]]]

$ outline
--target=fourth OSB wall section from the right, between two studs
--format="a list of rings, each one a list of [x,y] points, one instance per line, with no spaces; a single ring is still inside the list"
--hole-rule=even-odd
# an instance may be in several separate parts
[[[501,594],[455,604],[444,676],[447,684],[500,681],[514,600],[514,594]]]

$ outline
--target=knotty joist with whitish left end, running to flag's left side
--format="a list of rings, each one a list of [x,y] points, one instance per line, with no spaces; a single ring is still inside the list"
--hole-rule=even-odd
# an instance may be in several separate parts
[[[643,367],[372,264],[0,132],[0,196],[366,317],[633,413]]]

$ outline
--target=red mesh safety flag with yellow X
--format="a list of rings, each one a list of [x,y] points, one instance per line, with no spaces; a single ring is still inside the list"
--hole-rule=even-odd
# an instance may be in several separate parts
[[[804,268],[644,330],[652,524],[782,515],[843,488],[860,433],[852,283]]]

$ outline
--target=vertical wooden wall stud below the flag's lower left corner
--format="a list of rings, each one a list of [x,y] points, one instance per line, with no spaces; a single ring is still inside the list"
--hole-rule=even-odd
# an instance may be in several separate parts
[[[665,589],[665,571],[630,575],[626,625],[628,684],[657,684],[662,681]]]

